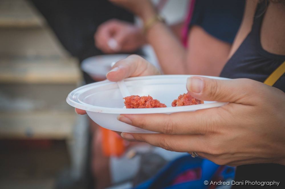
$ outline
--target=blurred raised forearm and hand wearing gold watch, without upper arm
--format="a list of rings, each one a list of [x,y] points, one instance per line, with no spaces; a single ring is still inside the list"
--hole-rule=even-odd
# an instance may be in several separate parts
[[[139,16],[144,25],[157,14],[150,0],[111,0]],[[146,41],[152,45],[164,74],[186,73],[186,52],[179,39],[163,23],[151,24]]]

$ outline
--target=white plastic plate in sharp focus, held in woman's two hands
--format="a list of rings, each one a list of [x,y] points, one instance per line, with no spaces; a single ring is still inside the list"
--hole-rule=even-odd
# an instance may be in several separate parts
[[[88,116],[106,129],[128,133],[152,133],[117,120],[119,114],[171,114],[196,111],[224,105],[224,102],[209,102],[190,106],[172,107],[171,103],[180,94],[187,93],[186,80],[193,75],[154,75],[124,79],[131,95],[147,96],[166,104],[166,108],[124,109],[124,100],[117,83],[100,81],[79,87],[69,93],[66,101],[75,108],[86,110]],[[203,76],[213,79],[222,77]]]

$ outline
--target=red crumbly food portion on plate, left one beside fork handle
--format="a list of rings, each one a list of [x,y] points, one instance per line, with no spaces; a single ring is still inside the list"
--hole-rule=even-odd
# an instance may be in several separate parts
[[[151,96],[139,96],[132,95],[127,96],[125,99],[126,108],[163,108],[165,104],[159,102],[159,100],[153,99]]]

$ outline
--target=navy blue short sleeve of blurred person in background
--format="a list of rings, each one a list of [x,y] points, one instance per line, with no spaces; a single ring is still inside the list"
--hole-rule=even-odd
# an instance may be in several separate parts
[[[244,9],[245,0],[196,0],[189,26],[201,26],[210,35],[233,43]]]

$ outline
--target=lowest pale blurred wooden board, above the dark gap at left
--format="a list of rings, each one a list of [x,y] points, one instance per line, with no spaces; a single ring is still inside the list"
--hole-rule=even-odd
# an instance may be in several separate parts
[[[72,112],[23,112],[0,114],[0,138],[72,138],[76,114]]]

